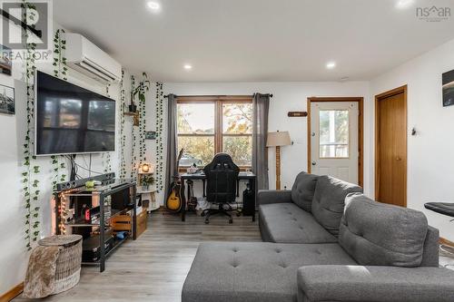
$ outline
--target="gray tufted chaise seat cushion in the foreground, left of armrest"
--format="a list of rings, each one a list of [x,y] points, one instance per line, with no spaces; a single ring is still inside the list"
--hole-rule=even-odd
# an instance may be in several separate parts
[[[184,281],[182,302],[294,302],[298,268],[314,264],[356,262],[337,243],[202,243]]]

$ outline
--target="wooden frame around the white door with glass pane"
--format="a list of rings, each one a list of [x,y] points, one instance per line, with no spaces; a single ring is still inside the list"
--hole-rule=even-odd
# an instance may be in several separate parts
[[[309,97],[307,102],[308,111],[308,172],[311,173],[311,103],[312,102],[358,102],[360,115],[358,116],[358,183],[360,187],[364,178],[364,98],[360,96],[352,97]]]

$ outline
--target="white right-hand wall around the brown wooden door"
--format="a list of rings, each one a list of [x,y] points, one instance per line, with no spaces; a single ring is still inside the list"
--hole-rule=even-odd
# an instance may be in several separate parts
[[[408,207],[422,210],[445,239],[454,240],[449,217],[424,209],[429,201],[454,202],[454,106],[442,106],[441,73],[454,69],[454,40],[370,83],[371,97],[408,85]],[[411,136],[415,127],[418,134]],[[373,178],[373,175],[370,175]]]

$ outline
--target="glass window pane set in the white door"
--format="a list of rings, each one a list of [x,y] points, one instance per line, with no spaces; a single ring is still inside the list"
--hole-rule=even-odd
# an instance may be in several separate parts
[[[320,158],[349,157],[349,111],[320,111]]]

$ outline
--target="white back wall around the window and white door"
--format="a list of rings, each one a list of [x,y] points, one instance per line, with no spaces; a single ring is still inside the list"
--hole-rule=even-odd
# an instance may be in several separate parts
[[[365,121],[370,120],[370,90],[367,82],[301,82],[301,83],[164,83],[164,94],[176,95],[245,95],[272,93],[269,131],[288,131],[294,144],[281,148],[281,187],[291,189],[296,175],[307,170],[307,118],[290,118],[287,112],[307,111],[307,98],[311,96],[362,96]],[[365,122],[365,135],[371,132]],[[367,136],[365,136],[367,138]],[[370,141],[364,146],[364,188],[370,194]],[[275,153],[269,151],[270,189],[275,188]]]

